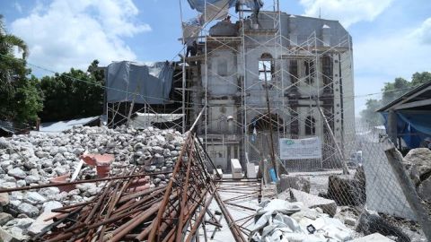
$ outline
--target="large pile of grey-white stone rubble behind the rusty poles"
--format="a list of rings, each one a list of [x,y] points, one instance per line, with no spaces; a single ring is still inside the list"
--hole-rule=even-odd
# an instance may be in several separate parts
[[[174,130],[75,126],[61,134],[31,133],[0,138],[0,188],[48,184],[54,177],[73,174],[80,155],[114,154],[110,176],[134,167],[146,172],[171,171],[184,135]],[[84,164],[77,180],[95,178],[93,167]],[[150,186],[167,183],[169,174],[154,177]],[[89,201],[103,183],[84,183],[62,191],[57,187],[0,194],[0,240],[28,238],[42,213],[64,205]]]

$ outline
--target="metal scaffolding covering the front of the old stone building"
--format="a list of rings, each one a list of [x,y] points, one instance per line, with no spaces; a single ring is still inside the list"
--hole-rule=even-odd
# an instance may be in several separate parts
[[[242,164],[247,158],[256,163],[267,159],[272,149],[265,124],[270,122],[277,157],[279,138],[321,138],[321,160],[283,160],[287,169],[339,169],[343,154],[334,140],[344,153],[345,139],[354,134],[354,125],[350,124],[354,122],[350,36],[347,33],[334,43],[324,34],[329,27],[323,25],[322,34],[314,30],[305,40],[298,41],[295,34],[286,34],[287,27],[299,28],[293,26],[296,16],[282,13],[277,0],[267,9],[270,10],[260,11],[258,18],[254,13],[246,16],[250,10],[240,10],[236,36],[216,36],[203,30],[199,39],[203,51],[195,59],[200,60],[200,98],[207,110],[201,131],[207,151],[214,160],[240,158]],[[223,55],[228,59],[225,69],[220,58]],[[256,61],[267,64],[268,71],[257,71]],[[262,73],[268,74],[268,82],[262,82]],[[343,89],[343,81],[352,87]],[[224,86],[216,86],[220,83]],[[220,92],[222,89],[224,93]],[[268,103],[261,100],[266,91],[270,112]],[[197,105],[199,99],[194,102]],[[324,125],[324,118],[331,129]],[[257,132],[253,132],[256,128]],[[224,168],[229,170],[229,166]]]

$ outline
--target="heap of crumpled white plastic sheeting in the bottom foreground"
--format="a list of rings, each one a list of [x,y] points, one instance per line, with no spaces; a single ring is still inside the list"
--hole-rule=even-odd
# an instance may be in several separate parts
[[[299,202],[274,199],[259,206],[256,216],[259,219],[251,229],[251,241],[339,242],[351,239],[354,234],[340,220],[305,208]],[[312,232],[307,229],[311,226]]]

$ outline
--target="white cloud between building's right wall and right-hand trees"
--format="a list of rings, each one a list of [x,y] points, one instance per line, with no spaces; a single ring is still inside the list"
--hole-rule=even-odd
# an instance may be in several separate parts
[[[413,73],[431,72],[430,22],[427,19],[414,30],[400,29],[354,43],[356,95],[380,91],[384,82],[392,82],[396,77],[410,80]],[[365,108],[365,99],[371,98],[380,96],[356,99],[356,111]]]

